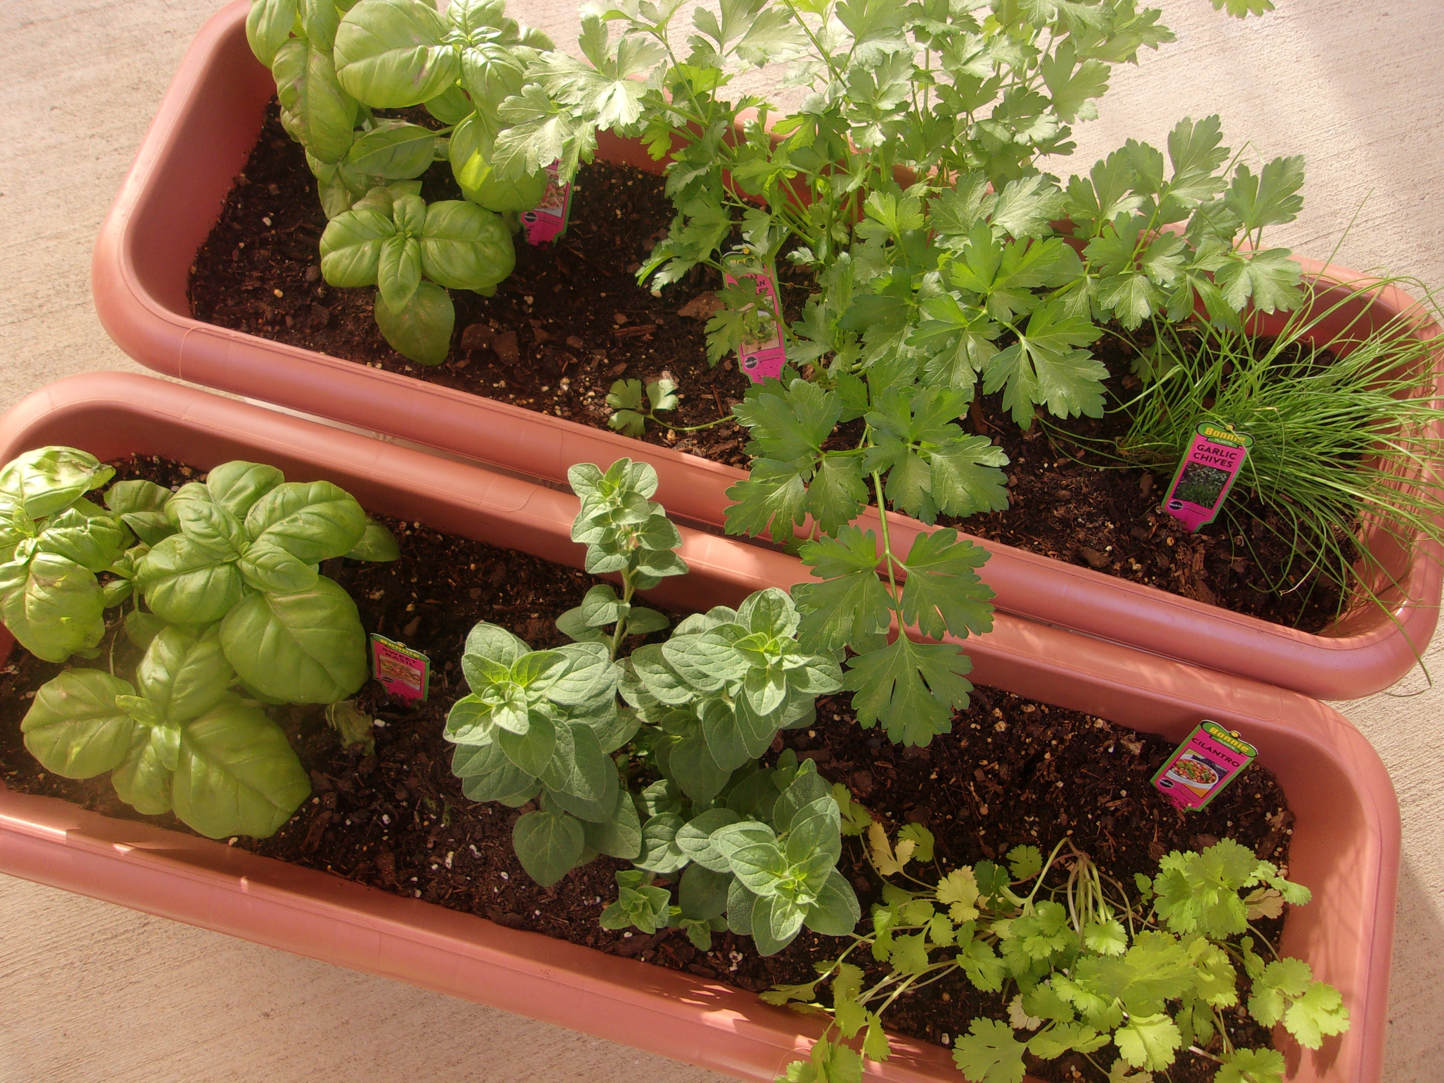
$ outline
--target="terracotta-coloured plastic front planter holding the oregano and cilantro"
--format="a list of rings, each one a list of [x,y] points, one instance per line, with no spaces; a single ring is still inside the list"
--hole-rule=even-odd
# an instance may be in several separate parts
[[[166,453],[201,468],[237,455],[328,477],[371,510],[469,531],[576,566],[576,498],[466,464],[147,377],[51,384],[0,419],[0,462],[62,440],[103,458]],[[664,604],[734,604],[803,576],[793,557],[683,529],[686,586]],[[9,637],[6,637],[9,638]],[[1344,992],[1353,1025],[1318,1053],[1285,1044],[1289,1079],[1380,1079],[1399,864],[1399,813],[1379,757],[1343,718],[1300,695],[1012,617],[967,643],[975,679],[1181,738],[1200,718],[1242,728],[1295,822],[1291,875],[1315,900],[1281,950]],[[0,871],[300,954],[409,980],[702,1067],[767,1083],[814,1021],[755,995],[495,926],[224,843],[108,819],[0,786]],[[641,1022],[643,1025],[638,1025]],[[878,1079],[956,1080],[947,1050],[898,1038]]]

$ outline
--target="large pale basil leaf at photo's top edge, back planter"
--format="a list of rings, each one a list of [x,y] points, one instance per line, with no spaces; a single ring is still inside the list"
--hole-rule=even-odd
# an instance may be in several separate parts
[[[461,77],[446,20],[420,0],[361,0],[336,27],[336,75],[371,108],[435,98]]]

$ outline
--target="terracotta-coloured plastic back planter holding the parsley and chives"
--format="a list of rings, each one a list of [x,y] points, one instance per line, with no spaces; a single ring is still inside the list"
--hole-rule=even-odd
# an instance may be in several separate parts
[[[679,521],[721,530],[725,490],[744,471],[619,433],[438,387],[326,354],[204,323],[189,315],[185,277],[234,173],[244,166],[273,87],[244,36],[247,0],[221,9],[196,35],[101,228],[92,289],[101,323],[155,371],[286,409],[329,417],[565,485],[579,461],[628,455],[651,462],[658,498]],[[601,156],[651,166],[604,133]],[[1300,258],[1315,279],[1367,284],[1347,269]],[[1419,309],[1385,287],[1379,312]],[[1444,351],[1437,355],[1444,387]],[[859,526],[868,529],[877,513]],[[892,523],[897,523],[892,527]],[[890,513],[890,527],[924,530]],[[1422,656],[1438,621],[1444,550],[1415,547],[1396,572],[1388,608],[1363,606],[1310,634],[1190,598],[975,539],[992,554],[985,579],[1005,612],[1327,699],[1388,687]]]

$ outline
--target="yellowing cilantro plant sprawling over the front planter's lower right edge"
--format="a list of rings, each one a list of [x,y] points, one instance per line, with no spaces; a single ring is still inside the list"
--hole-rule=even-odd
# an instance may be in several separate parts
[[[1191,1056],[1216,1064],[1222,1083],[1282,1083],[1284,1056],[1238,1045],[1227,1009],[1243,1005],[1264,1027],[1282,1022],[1308,1048],[1349,1027],[1339,991],[1302,960],[1279,957],[1252,924],[1279,917],[1285,902],[1307,904],[1308,890],[1232,839],[1168,853],[1129,890],[1067,840],[1047,862],[1035,846],[1017,846],[1006,868],[980,861],[934,878],[920,868],[933,862],[926,827],[908,825],[895,840],[879,823],[866,832],[884,878],[871,934],[819,962],[816,980],[762,995],[829,1015],[810,1058],[780,1080],[859,1079],[864,1057],[888,1057],[887,1008],[957,970],[982,992],[1015,991],[1006,1021],[975,1018],[953,1041],[970,1083],[1018,1083],[1024,1053],[1077,1053],[1116,1080],[1149,1079]],[[869,983],[865,967],[878,963],[885,973]],[[829,982],[830,1008],[817,992]]]

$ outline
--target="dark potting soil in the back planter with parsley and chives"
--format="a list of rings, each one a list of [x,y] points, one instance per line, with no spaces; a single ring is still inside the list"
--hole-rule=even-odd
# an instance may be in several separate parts
[[[423,110],[407,116],[436,123]],[[461,198],[446,162],[426,173],[423,193],[429,201]],[[602,162],[583,168],[562,241],[536,248],[518,237],[517,270],[494,297],[453,290],[451,360],[435,368],[413,364],[381,338],[371,316],[374,290],[332,289],[321,280],[326,218],[305,153],[282,130],[273,101],[245,170],[196,253],[191,310],[211,323],[595,427],[606,427],[614,380],[667,375],[682,388],[669,420],[703,425],[726,417],[748,381],[731,360],[706,362],[708,302],[721,286],[713,271],[696,269],[663,297],[637,284],[634,271],[666,235],[671,214],[660,176]],[[793,318],[809,290],[801,279],[790,280],[791,269],[780,276],[784,313]],[[1128,371],[1118,344],[1105,339],[1099,351],[1112,371]],[[1291,560],[1307,569],[1310,554],[1294,552],[1262,523],[1251,531],[1252,552],[1222,518],[1190,534],[1158,510],[1167,477],[1070,461],[1040,426],[1019,432],[999,397],[983,397],[963,425],[1008,451],[1012,507],[959,523],[966,531],[1304,631],[1337,615],[1336,583],[1317,572],[1279,575]],[[1121,425],[1121,417],[1084,420],[1082,430],[1118,436]],[[747,432],[732,420],[695,433],[648,425],[643,439],[713,462],[748,464]],[[1242,494],[1230,501],[1245,510]],[[1248,503],[1248,511],[1266,517],[1262,505]]]

